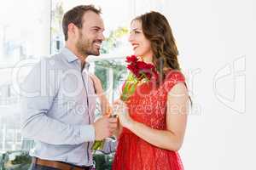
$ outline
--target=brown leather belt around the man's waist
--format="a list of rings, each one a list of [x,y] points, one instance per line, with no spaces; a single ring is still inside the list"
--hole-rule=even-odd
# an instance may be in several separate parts
[[[54,167],[61,170],[90,170],[91,167],[79,167],[75,165],[71,165],[62,161],[49,161],[49,160],[43,160],[38,157],[32,158],[32,163],[44,167]]]

